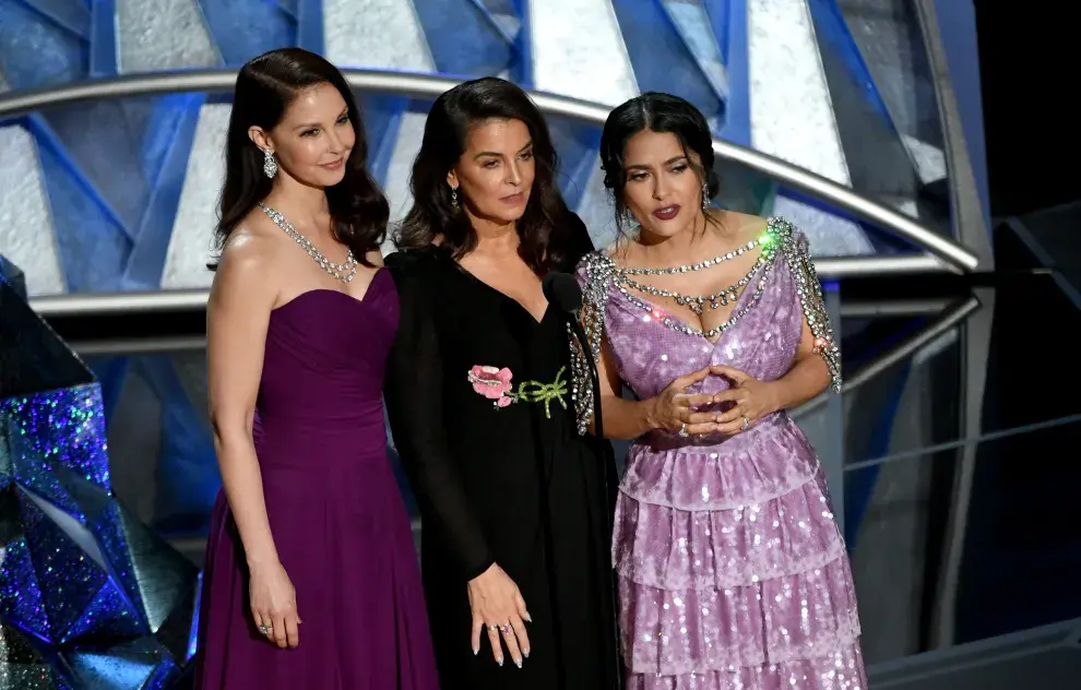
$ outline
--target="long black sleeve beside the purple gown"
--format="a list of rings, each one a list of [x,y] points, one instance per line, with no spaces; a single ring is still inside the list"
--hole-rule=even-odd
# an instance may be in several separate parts
[[[399,254],[388,257],[387,265],[401,305],[383,390],[391,433],[420,507],[423,528],[439,534],[468,581],[494,561],[447,444],[439,337],[431,294],[420,275],[429,266]]]

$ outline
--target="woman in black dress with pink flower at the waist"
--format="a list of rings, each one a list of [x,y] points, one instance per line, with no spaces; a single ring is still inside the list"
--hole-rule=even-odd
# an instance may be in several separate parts
[[[592,250],[555,167],[524,92],[452,88],[428,114],[387,258],[401,325],[384,394],[444,688],[618,687],[615,465],[578,433],[569,317],[542,290]]]

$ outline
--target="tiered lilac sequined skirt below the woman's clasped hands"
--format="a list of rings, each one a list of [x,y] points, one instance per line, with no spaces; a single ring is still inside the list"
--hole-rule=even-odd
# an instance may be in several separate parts
[[[616,513],[629,689],[866,690],[844,540],[785,415],[639,441]]]

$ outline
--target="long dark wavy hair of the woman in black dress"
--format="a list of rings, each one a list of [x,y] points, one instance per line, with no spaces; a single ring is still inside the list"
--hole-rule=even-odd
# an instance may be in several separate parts
[[[536,174],[525,213],[518,221],[519,255],[538,275],[562,264],[574,251],[581,221],[556,185],[558,157],[551,134],[528,95],[514,84],[487,76],[459,84],[432,104],[420,153],[413,164],[413,207],[394,234],[399,249],[441,247],[461,259],[477,246],[468,216],[451,204],[447,175],[465,153],[470,128],[487,120],[521,120],[530,130]]]

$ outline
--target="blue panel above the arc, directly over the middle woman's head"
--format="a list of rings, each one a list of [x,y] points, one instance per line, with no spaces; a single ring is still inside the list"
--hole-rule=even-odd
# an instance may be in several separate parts
[[[504,16],[516,16],[510,2],[492,2]],[[487,76],[506,70],[521,73],[526,56],[515,46],[516,36],[506,33],[506,21],[497,21],[478,0],[413,0],[428,39],[436,69],[463,78]],[[514,11],[515,14],[510,14]],[[448,31],[448,27],[454,31]]]

